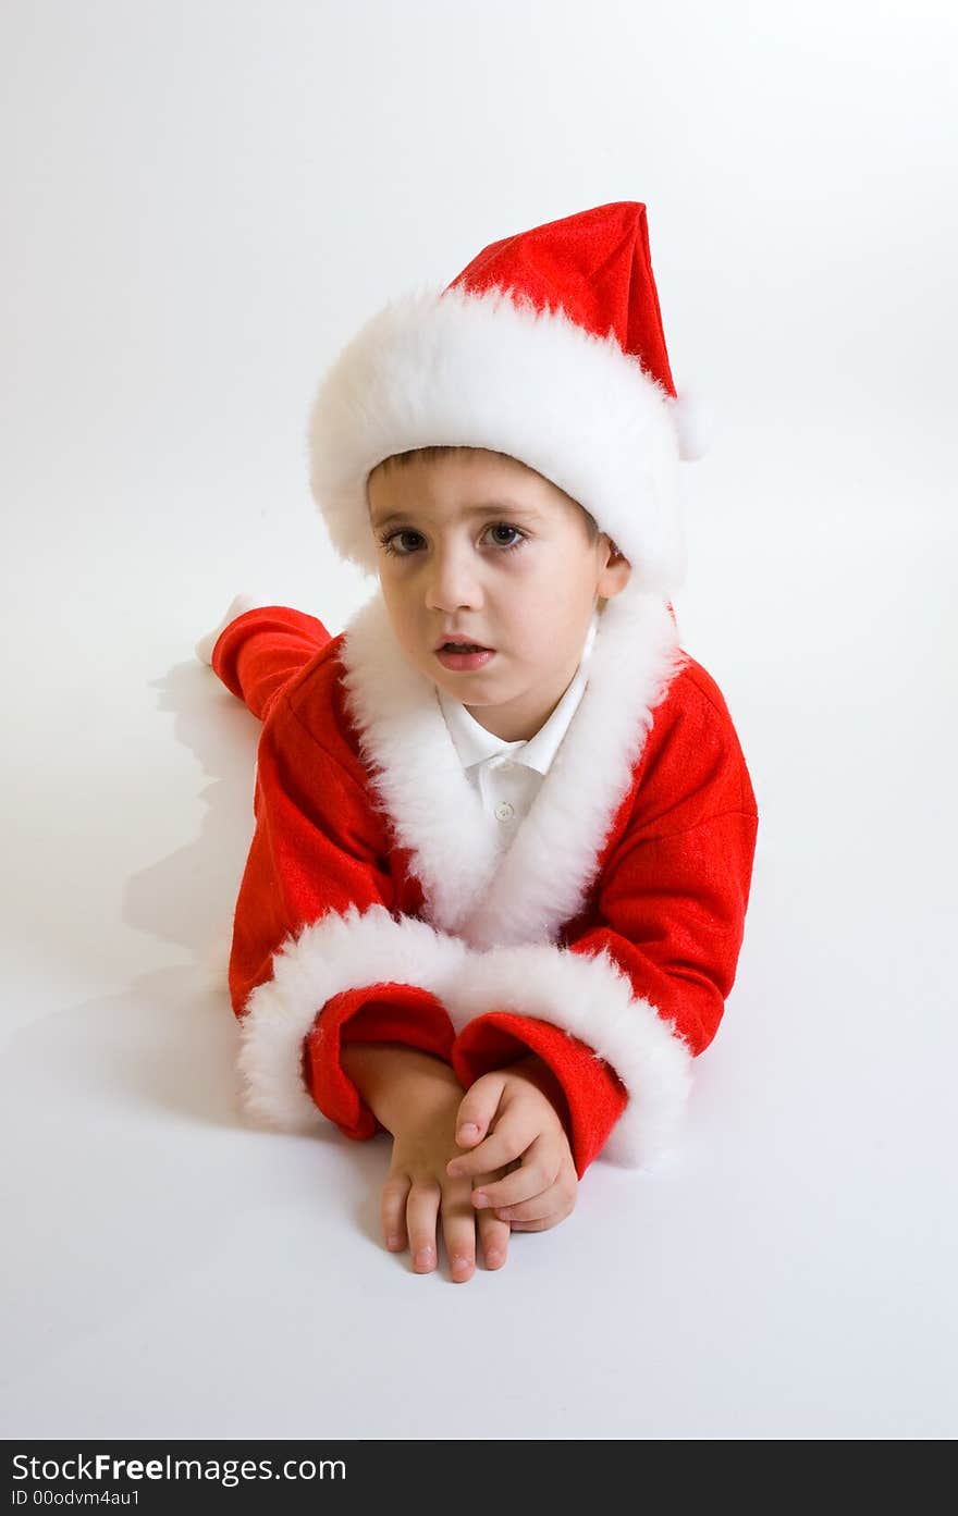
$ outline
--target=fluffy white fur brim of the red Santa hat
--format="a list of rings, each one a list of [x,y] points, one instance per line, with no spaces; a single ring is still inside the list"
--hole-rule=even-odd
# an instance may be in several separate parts
[[[309,417],[309,482],[337,550],[377,572],[365,484],[414,447],[508,453],[579,502],[632,564],[631,587],[685,578],[675,402],[559,308],[500,288],[390,302],[340,353]]]

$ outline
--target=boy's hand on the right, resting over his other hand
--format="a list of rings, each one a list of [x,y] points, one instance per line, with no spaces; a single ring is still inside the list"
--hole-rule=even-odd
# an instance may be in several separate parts
[[[555,1078],[535,1055],[471,1085],[456,1119],[456,1142],[470,1152],[447,1163],[446,1173],[474,1179],[479,1216],[496,1214],[512,1231],[546,1231],[571,1213],[579,1181],[559,1104]],[[488,1182],[490,1170],[515,1160],[518,1167]]]

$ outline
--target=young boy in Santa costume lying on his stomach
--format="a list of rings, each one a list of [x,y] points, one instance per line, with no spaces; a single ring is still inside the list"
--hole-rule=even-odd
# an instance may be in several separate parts
[[[494,243],[323,381],[311,485],[379,578],[330,637],[236,600],[200,656],[264,722],[230,993],[247,1108],[393,1135],[387,1246],[468,1280],[675,1137],[756,834],[678,644],[678,462],[646,209]]]

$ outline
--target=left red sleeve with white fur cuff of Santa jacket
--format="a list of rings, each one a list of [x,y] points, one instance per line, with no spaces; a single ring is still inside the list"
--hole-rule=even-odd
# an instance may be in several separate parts
[[[452,1023],[429,984],[446,944],[394,914],[382,816],[282,696],[259,740],[253,811],[229,970],[250,1108],[288,1125],[306,1099],[349,1135],[371,1135],[340,1049],[384,1040],[449,1060]]]

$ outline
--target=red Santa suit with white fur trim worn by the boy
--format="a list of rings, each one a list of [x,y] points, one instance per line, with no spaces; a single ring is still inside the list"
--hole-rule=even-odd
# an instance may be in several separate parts
[[[599,1152],[667,1149],[735,979],[758,825],[726,703],[670,608],[608,602],[505,854],[379,593],[338,637],[246,612],[212,666],[264,722],[229,970],[250,1113],[373,1135],[344,1040],[423,1048],[464,1085],[532,1051],[579,1175]]]

